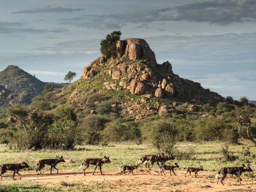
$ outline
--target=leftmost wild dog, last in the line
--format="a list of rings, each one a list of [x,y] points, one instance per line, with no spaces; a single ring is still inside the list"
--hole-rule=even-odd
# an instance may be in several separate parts
[[[3,164],[3,165],[0,165],[0,178],[1,178],[1,180],[3,180],[2,175],[4,173],[6,173],[7,171],[13,171],[12,178],[14,180],[15,173],[20,175],[19,171],[20,171],[20,169],[23,169],[23,168],[29,168],[29,165],[25,161],[23,161],[22,163],[18,163],[18,164]],[[20,175],[20,179],[21,179],[21,175]]]

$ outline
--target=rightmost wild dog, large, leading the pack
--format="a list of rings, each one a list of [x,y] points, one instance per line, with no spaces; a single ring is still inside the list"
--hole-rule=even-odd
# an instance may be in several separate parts
[[[215,176],[215,178],[218,179],[218,181],[219,179],[221,179],[221,184],[224,185],[223,181],[227,177],[227,174],[236,175],[241,185],[242,179],[240,175],[242,175],[243,172],[253,172],[253,170],[250,168],[250,164],[248,164],[247,166],[242,164],[242,167],[223,167],[218,171],[218,174]],[[220,174],[222,175],[222,177],[220,177]]]

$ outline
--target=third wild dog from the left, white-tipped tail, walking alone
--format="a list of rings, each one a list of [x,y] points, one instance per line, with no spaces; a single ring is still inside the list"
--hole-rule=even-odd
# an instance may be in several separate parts
[[[89,167],[89,164],[91,164],[91,165],[95,165],[95,169],[93,171],[93,175],[94,175],[94,172],[96,171],[97,167],[99,167],[101,175],[104,175],[104,174],[102,174],[102,170],[101,170],[101,167],[102,167],[102,165],[104,163],[111,163],[111,161],[109,160],[109,157],[104,156],[104,158],[102,158],[102,159],[97,159],[97,158],[85,159],[85,160],[83,160],[83,163],[81,164],[81,166],[79,166],[79,170],[84,165],[85,168],[83,169],[83,171],[85,171],[85,169],[87,169]],[[85,172],[84,172],[84,175],[85,175]]]

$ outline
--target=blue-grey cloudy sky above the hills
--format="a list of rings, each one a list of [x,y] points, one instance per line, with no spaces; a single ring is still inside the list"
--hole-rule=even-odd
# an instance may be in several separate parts
[[[113,30],[144,38],[159,64],[222,96],[256,100],[256,0],[0,0],[0,70],[42,81],[99,56]]]

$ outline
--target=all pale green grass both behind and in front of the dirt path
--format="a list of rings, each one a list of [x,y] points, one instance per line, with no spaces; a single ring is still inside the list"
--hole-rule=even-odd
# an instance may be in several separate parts
[[[189,151],[189,147],[194,148],[194,155],[191,160],[174,160],[180,166],[178,170],[183,171],[183,168],[187,166],[204,166],[204,170],[209,172],[209,175],[212,174],[212,177],[215,173],[224,166],[241,166],[244,162],[243,150],[244,147],[249,147],[251,155],[256,154],[256,148],[251,145],[251,143],[241,140],[240,145],[230,145],[229,150],[236,157],[236,160],[233,161],[223,161],[221,158],[221,148],[224,143],[221,142],[203,142],[203,143],[178,143],[178,151]],[[78,170],[79,165],[84,158],[100,158],[104,156],[110,156],[112,161],[111,164],[106,164],[102,166],[104,170],[117,170],[122,165],[137,164],[138,160],[143,154],[156,154],[157,151],[152,148],[149,144],[136,145],[134,143],[117,143],[111,144],[110,146],[95,146],[95,145],[82,145],[76,146],[75,150],[72,151],[52,151],[52,150],[41,150],[41,151],[12,151],[7,148],[6,145],[0,145],[0,164],[3,163],[19,163],[26,161],[31,167],[26,170],[20,171],[29,172],[30,174],[33,168],[35,167],[39,159],[44,158],[56,158],[61,155],[64,156],[64,159],[67,160],[66,163],[59,163],[58,168],[60,171],[65,172],[75,172]],[[166,164],[173,164],[174,162],[167,162]],[[251,163],[253,170],[256,169],[255,163]],[[140,168],[144,169],[144,165]],[[157,168],[157,165],[154,166]],[[87,170],[94,169],[94,166],[90,166]],[[49,172],[49,167],[44,169],[44,173]],[[55,172],[54,172],[55,173]],[[9,172],[9,174],[11,174]],[[5,174],[6,175],[6,174]],[[91,175],[91,174],[90,174]],[[11,175],[9,175],[11,176]],[[6,191],[17,191],[17,192],[41,192],[41,191],[97,191],[105,192],[107,188],[109,189],[110,183],[107,181],[102,182],[60,182],[55,183],[54,185],[42,185],[38,184],[36,181],[20,181],[20,182],[11,182],[11,177],[4,177],[4,180],[8,180],[7,184],[4,184],[0,181],[0,192]],[[246,179],[245,179],[246,180]],[[249,180],[249,178],[247,178]],[[117,181],[116,181],[117,182]],[[164,182],[164,181],[163,181]],[[172,183],[173,182],[173,183]],[[186,185],[189,181],[171,181],[170,185],[177,185],[181,182],[183,185]],[[185,183],[184,183],[185,182]],[[113,183],[112,183],[113,184]],[[147,182],[144,183],[147,185]],[[144,185],[141,183],[141,185]],[[160,186],[152,186],[152,191],[157,191]],[[119,191],[119,190],[117,190]],[[120,190],[122,191],[122,190]]]

